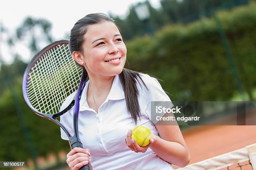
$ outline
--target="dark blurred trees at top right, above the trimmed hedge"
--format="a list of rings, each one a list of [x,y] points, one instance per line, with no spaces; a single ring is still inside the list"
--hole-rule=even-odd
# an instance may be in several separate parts
[[[191,23],[202,17],[210,17],[213,12],[220,9],[232,9],[232,7],[248,4],[250,0],[161,0],[161,7],[155,9],[146,0],[144,3],[148,6],[151,28],[154,31],[161,29],[166,24]],[[138,5],[138,4],[137,4]],[[126,18],[115,18],[123,38],[131,40],[133,37],[150,32],[147,22],[140,21],[135,13],[137,5],[129,9]]]

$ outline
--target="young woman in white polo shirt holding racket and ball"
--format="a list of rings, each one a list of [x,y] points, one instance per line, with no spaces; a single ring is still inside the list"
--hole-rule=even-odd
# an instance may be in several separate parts
[[[101,13],[86,15],[75,23],[69,41],[74,60],[90,78],[82,92],[78,122],[86,149],[74,148],[67,154],[69,168],[78,170],[88,163],[93,170],[186,166],[190,155],[179,126],[155,125],[151,119],[151,101],[171,100],[155,78],[124,68],[126,47],[113,19]],[[61,116],[71,134],[72,113],[71,109]],[[153,133],[146,147],[131,139],[131,130],[142,124]],[[61,138],[68,140],[62,129]]]

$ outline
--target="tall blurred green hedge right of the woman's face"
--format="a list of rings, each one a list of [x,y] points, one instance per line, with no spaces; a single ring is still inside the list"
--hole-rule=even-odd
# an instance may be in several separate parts
[[[256,4],[218,15],[250,95],[256,84]],[[154,37],[138,37],[126,45],[127,66],[164,79],[172,100],[230,100],[237,91],[214,18],[167,25]]]

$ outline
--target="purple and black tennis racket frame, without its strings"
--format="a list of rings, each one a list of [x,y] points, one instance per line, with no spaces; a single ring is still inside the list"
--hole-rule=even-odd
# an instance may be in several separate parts
[[[44,114],[41,112],[38,112],[29,102],[28,96],[27,96],[27,85],[28,85],[28,78],[29,78],[29,73],[31,72],[31,68],[35,65],[36,61],[42,57],[42,55],[50,50],[52,47],[56,47],[56,45],[59,44],[66,44],[69,45],[69,41],[68,40],[59,40],[59,41],[55,41],[53,43],[51,43],[50,45],[44,47],[43,50],[41,50],[40,52],[38,52],[33,59],[31,60],[31,62],[28,64],[26,71],[24,73],[23,76],[23,97],[28,105],[28,107],[35,112],[37,115],[44,117],[46,119],[51,120],[52,122],[56,123],[57,125],[59,125],[64,132],[67,134],[72,149],[75,147],[79,147],[79,148],[83,148],[83,145],[79,139],[79,133],[78,133],[78,113],[79,113],[79,102],[81,99],[81,95],[82,95],[82,91],[85,87],[86,84],[86,80],[87,80],[87,72],[84,71],[84,69],[82,70],[82,76],[81,76],[81,81],[79,83],[78,86],[78,90],[76,95],[74,96],[72,102],[67,106],[67,108],[65,108],[64,110],[58,112],[58,113],[54,113],[54,114]],[[72,136],[67,129],[58,121],[56,120],[57,117],[63,115],[64,113],[66,113],[68,110],[70,110],[72,107],[74,106],[74,135]],[[80,170],[90,170],[89,164],[84,165],[82,168],[80,168]]]

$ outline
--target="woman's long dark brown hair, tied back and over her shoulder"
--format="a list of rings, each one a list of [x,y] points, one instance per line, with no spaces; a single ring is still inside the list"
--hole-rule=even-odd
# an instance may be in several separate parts
[[[88,14],[84,18],[78,20],[70,32],[69,49],[71,54],[73,51],[82,52],[82,43],[84,42],[84,34],[87,32],[87,27],[89,25],[102,23],[104,21],[110,21],[115,24],[112,18],[102,13]],[[120,31],[119,28],[118,30]],[[79,64],[77,63],[77,65]],[[86,71],[83,66],[79,65],[79,67],[82,67],[84,71]],[[136,85],[136,81],[139,83],[140,86],[142,82],[143,85],[146,87],[146,84],[141,79],[139,73],[140,72],[123,68],[122,72],[119,75],[119,79],[125,93],[127,110],[131,114],[131,117],[136,125],[138,118],[141,119],[141,109],[138,104],[138,87]],[[146,89],[148,88],[146,87]]]

